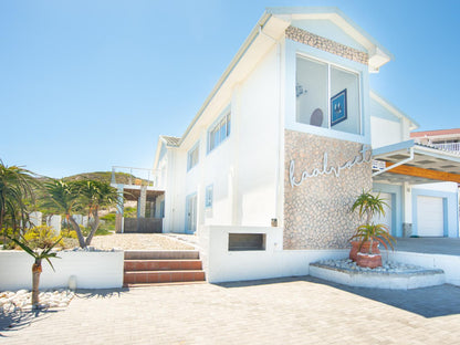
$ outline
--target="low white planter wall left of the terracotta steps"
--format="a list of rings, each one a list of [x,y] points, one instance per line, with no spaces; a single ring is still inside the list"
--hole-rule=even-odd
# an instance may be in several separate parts
[[[43,260],[40,289],[67,288],[76,278],[77,289],[122,288],[124,252],[63,251],[51,259],[55,272]],[[33,258],[23,251],[0,251],[0,291],[32,289]]]

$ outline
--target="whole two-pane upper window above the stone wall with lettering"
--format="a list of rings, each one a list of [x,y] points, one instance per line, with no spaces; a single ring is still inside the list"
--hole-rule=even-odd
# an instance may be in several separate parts
[[[362,134],[358,73],[297,56],[295,96],[296,122]]]

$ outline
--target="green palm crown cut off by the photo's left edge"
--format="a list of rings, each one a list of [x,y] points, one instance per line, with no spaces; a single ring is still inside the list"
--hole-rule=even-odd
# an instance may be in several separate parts
[[[34,187],[39,186],[33,172],[18,166],[7,166],[0,159],[0,230],[10,226],[14,231],[25,227],[28,201],[34,202]]]

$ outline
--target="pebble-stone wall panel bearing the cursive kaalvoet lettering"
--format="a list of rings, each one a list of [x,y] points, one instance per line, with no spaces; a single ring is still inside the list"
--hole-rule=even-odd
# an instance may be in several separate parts
[[[286,129],[283,248],[346,248],[363,189],[372,189],[370,148]]]

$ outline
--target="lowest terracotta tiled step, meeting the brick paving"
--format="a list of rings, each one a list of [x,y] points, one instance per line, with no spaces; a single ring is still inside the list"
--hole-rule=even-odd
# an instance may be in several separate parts
[[[197,282],[205,281],[205,272],[198,270],[186,271],[135,271],[125,272],[124,283],[172,283],[172,282]]]

